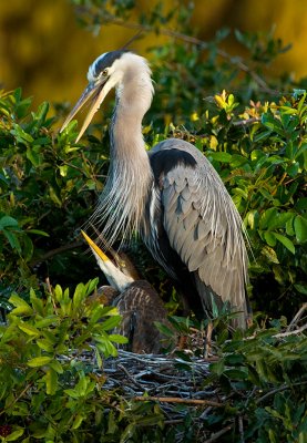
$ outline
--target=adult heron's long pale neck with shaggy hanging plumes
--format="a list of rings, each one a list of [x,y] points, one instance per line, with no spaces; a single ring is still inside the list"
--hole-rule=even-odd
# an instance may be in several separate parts
[[[152,101],[152,81],[147,65],[145,70],[144,65],[134,65],[131,71],[124,73],[116,87],[110,169],[93,215],[93,222],[99,220],[110,244],[119,234],[130,237],[132,231],[140,229],[146,197],[153,184],[142,135],[142,119]]]

